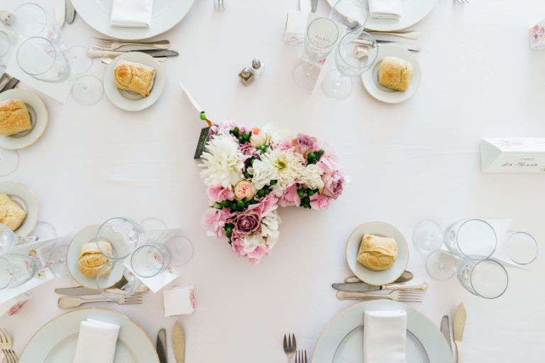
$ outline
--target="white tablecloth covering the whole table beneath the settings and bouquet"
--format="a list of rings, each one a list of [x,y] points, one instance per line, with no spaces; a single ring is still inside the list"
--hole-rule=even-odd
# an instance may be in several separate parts
[[[13,10],[18,1],[2,1]],[[42,1],[50,11],[53,0]],[[43,96],[50,123],[32,147],[20,150],[20,181],[40,202],[40,220],[74,235],[112,216],[162,218],[180,225],[194,245],[192,261],[172,283],[192,283],[197,310],[165,318],[163,294],[141,306],[97,304],[128,315],[155,342],[175,320],[185,328],[187,362],[285,361],[284,333],[312,352],[326,323],[355,301],[338,301],[331,283],[350,275],[344,247],[351,231],[369,220],[400,228],[409,242],[408,269],[430,287],[412,303],[437,325],[463,301],[468,311],[463,361],[542,362],[545,355],[544,255],[532,271],[510,269],[509,288],[495,300],[468,293],[453,278],[426,275],[425,255],[412,245],[412,227],[423,218],[446,226],[458,218],[512,218],[512,227],[545,241],[543,175],[481,174],[480,137],[544,137],[545,52],[529,50],[528,28],[545,17],[540,0],[473,0],[463,6],[440,0],[422,22],[414,43],[422,84],[402,104],[370,97],[358,79],[343,101],[314,96],[292,81],[301,48],[283,43],[286,13],[297,1],[231,0],[226,11],[196,1],[168,38],[179,57],[163,63],[165,91],[145,111],[129,113],[104,96],[95,106]],[[319,1],[318,13],[329,6]],[[65,44],[86,45],[99,35],[81,18],[63,28]],[[409,40],[410,41],[410,40]],[[253,57],[265,63],[250,86],[237,74]],[[95,60],[91,73],[105,67]],[[351,184],[326,211],[285,208],[280,242],[258,266],[229,251],[200,224],[207,197],[192,157],[197,111],[182,94],[184,82],[214,121],[275,123],[293,133],[329,140]],[[23,85],[24,86],[24,85]],[[543,249],[541,248],[541,251]],[[32,291],[23,311],[1,318],[21,352],[41,325],[64,312],[53,289],[57,279]],[[170,337],[168,338],[170,341]],[[174,361],[171,347],[169,359]],[[309,354],[310,355],[310,354]]]

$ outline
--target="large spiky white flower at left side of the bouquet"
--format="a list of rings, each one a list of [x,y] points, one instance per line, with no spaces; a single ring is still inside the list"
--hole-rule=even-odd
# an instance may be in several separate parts
[[[214,135],[201,158],[203,161],[199,167],[204,168],[201,177],[205,185],[230,188],[243,179],[241,173],[244,166],[243,155],[238,151],[238,144],[231,135]]]

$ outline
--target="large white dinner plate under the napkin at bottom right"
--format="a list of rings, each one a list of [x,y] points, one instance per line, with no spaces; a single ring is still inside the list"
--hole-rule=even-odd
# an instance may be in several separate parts
[[[363,362],[363,315],[365,311],[407,312],[407,363],[452,363],[453,357],[437,326],[414,308],[389,300],[365,301],[333,318],[314,346],[311,363]]]

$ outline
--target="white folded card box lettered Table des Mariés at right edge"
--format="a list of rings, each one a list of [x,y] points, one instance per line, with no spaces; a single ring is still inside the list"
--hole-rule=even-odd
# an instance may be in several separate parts
[[[545,138],[482,138],[483,173],[545,175]]]

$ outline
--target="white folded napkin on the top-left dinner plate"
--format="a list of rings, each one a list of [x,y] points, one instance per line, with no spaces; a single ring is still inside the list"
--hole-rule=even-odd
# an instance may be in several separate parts
[[[149,28],[153,0],[114,0],[111,4],[110,25]]]

